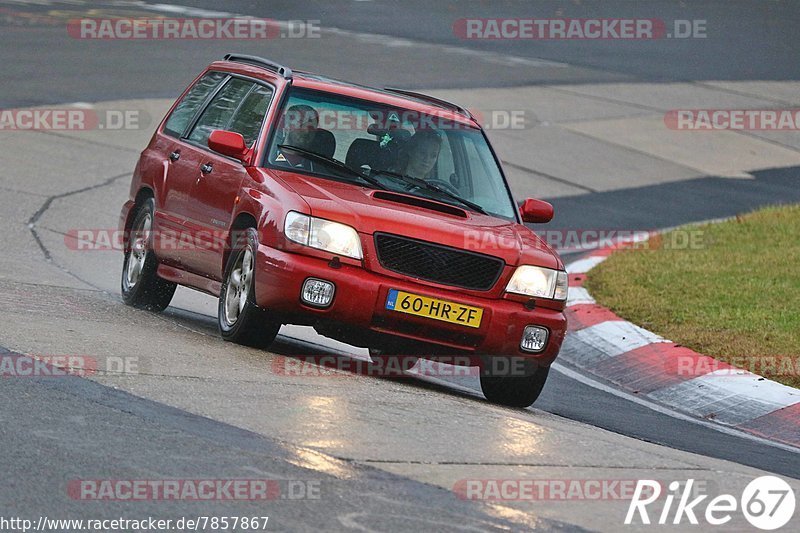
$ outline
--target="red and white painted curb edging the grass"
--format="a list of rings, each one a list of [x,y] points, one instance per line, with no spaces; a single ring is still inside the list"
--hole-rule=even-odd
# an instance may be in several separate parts
[[[613,251],[567,265],[569,334],[559,359],[656,404],[800,448],[800,390],[675,344],[595,302],[583,282]]]

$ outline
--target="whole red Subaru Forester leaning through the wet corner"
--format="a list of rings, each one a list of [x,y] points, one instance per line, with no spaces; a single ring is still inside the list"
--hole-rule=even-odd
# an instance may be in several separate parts
[[[251,346],[301,324],[373,357],[467,356],[489,400],[528,406],[564,339],[567,275],[522,222],[552,216],[518,206],[461,107],[229,54],[142,152],[122,297],[218,296],[222,337]]]

